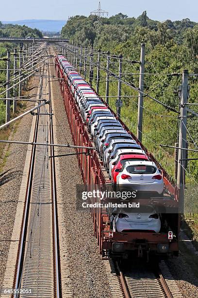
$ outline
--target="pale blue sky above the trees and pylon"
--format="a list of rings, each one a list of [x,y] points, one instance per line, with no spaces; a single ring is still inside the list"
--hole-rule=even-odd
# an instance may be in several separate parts
[[[88,16],[98,8],[99,0],[10,0],[0,1],[0,20],[61,19],[75,15]],[[198,0],[100,0],[109,16],[119,12],[138,17],[144,10],[150,19],[179,20],[189,18],[198,22]],[[6,13],[7,12],[7,13]]]

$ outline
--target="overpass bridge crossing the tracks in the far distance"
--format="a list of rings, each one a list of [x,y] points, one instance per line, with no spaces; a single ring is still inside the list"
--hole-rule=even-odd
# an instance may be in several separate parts
[[[34,43],[34,42],[41,42],[41,41],[46,41],[50,43],[55,43],[55,42],[68,42],[69,40],[66,38],[27,38],[27,37],[0,37],[0,42],[15,42],[15,43]]]

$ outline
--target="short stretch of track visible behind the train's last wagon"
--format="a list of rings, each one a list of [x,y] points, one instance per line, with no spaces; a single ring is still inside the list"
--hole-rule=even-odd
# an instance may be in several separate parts
[[[104,261],[113,298],[182,298],[165,261],[158,265]]]

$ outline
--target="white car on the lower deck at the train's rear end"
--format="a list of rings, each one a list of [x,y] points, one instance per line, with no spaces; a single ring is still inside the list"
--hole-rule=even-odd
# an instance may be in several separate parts
[[[114,232],[150,231],[159,233],[161,220],[152,206],[119,209],[113,218]]]

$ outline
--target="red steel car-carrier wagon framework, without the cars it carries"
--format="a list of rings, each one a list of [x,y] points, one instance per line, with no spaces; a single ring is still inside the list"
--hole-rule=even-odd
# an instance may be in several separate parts
[[[60,88],[64,100],[67,120],[70,126],[74,145],[93,147],[90,135],[87,131],[86,124],[82,120],[80,109],[75,98],[69,88],[68,80],[64,75],[59,60],[56,57],[56,72],[61,78]],[[104,104],[112,111],[112,109],[104,102]],[[112,111],[112,113],[114,113]],[[114,113],[115,115],[115,113]],[[116,115],[115,115],[116,116]],[[151,204],[155,206],[163,206],[174,208],[175,212],[163,213],[165,229],[160,233],[152,232],[113,232],[110,225],[109,214],[105,208],[91,208],[90,212],[93,218],[94,232],[98,241],[99,251],[103,257],[113,255],[126,257],[131,252],[136,252],[141,257],[144,252],[154,254],[178,255],[178,239],[180,229],[180,215],[178,213],[179,191],[172,177],[165,171],[154,156],[148,152],[148,149],[137,139],[137,137],[128,129],[128,127],[119,119],[125,130],[129,131],[133,139],[147,153],[150,160],[153,161],[158,168],[162,170],[166,195],[161,199],[143,200],[142,204]],[[78,154],[79,168],[82,174],[82,180],[85,186],[97,186],[98,189],[103,186],[110,185],[108,174],[103,167],[103,163],[99,158],[96,150],[76,149],[77,153],[87,152],[88,154]],[[151,202],[152,201],[152,202]],[[92,203],[99,202],[93,199]]]

